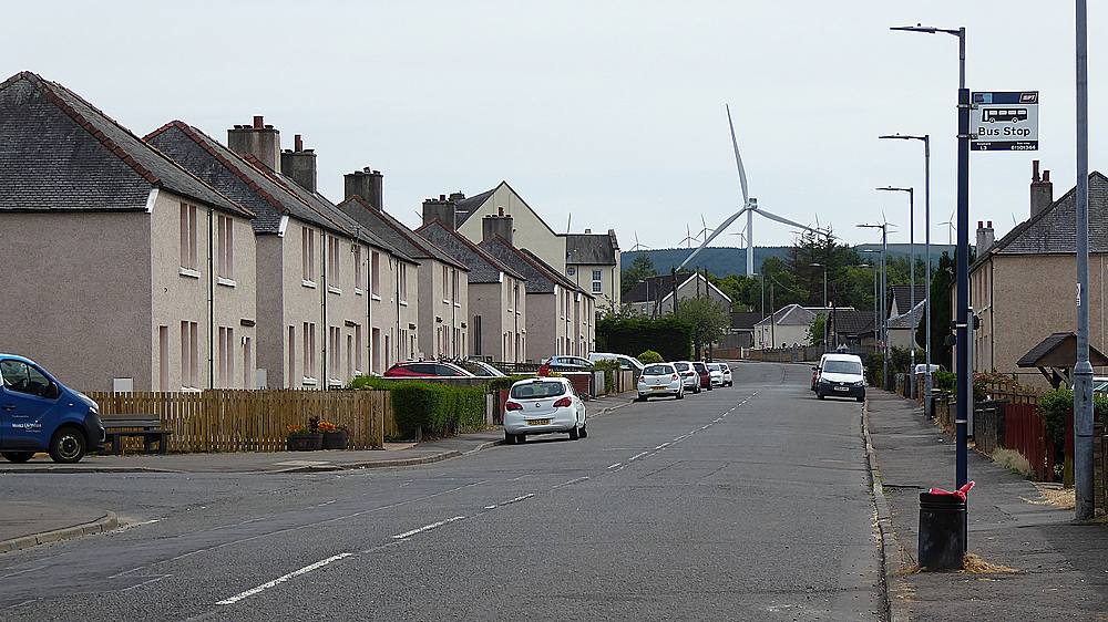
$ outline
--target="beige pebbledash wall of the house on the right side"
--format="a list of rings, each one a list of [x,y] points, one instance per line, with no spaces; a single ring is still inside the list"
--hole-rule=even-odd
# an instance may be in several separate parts
[[[1089,257],[1089,344],[1108,352],[1108,315],[1105,291],[1108,256]],[[971,274],[970,292],[981,328],[974,333],[975,371],[1016,374],[1020,384],[1049,388],[1034,369],[1018,361],[1056,332],[1076,331],[1073,255],[994,255]],[[1097,375],[1105,375],[1098,367]]]

